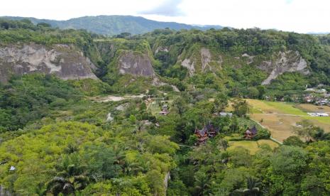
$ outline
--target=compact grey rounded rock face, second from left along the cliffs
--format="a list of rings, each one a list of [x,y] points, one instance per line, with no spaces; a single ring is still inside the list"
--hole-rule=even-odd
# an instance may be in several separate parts
[[[155,71],[148,55],[124,51],[119,57],[119,72],[138,76],[154,76]]]

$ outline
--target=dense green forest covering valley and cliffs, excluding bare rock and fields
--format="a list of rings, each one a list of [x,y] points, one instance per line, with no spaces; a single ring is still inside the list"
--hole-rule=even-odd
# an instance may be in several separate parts
[[[0,188],[12,195],[329,195],[330,136],[302,121],[283,143],[250,119],[243,98],[301,96],[330,85],[329,36],[260,29],[156,30],[106,37],[47,23],[0,20],[0,46],[76,45],[99,80],[13,75],[0,85]],[[163,48],[163,49],[162,49]],[[194,75],[180,65],[209,48]],[[144,54],[155,76],[121,75],[123,51]],[[158,52],[156,52],[158,50]],[[297,50],[308,75],[285,72],[262,85],[258,63]],[[247,63],[244,53],[254,56]],[[240,58],[236,58],[240,57]],[[178,60],[180,59],[180,60]],[[238,66],[239,65],[239,66]],[[0,65],[1,66],[1,65]],[[171,85],[177,87],[174,90]],[[106,95],[143,94],[101,102]],[[152,101],[150,101],[152,100]],[[291,100],[293,101],[293,100]],[[160,114],[166,111],[167,115]],[[220,115],[221,111],[231,115]],[[214,127],[211,129],[209,127]],[[258,151],[233,148],[248,139]],[[201,130],[216,134],[199,138]],[[208,132],[209,133],[209,132]],[[262,141],[270,141],[270,146]]]

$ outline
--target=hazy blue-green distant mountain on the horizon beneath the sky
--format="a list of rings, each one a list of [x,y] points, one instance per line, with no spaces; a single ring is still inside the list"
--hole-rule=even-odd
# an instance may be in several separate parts
[[[21,20],[25,17],[4,16],[11,20]],[[209,28],[222,28],[222,26],[192,26],[184,23],[152,21],[139,16],[84,16],[72,18],[67,21],[28,18],[33,23],[49,23],[53,27],[62,29],[86,29],[87,31],[102,35],[116,35],[123,32],[132,34],[148,33],[159,28],[174,30],[192,29],[207,30]]]

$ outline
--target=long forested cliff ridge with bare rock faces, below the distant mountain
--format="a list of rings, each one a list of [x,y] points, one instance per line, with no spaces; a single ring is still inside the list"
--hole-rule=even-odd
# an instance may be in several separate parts
[[[84,30],[60,30],[47,23],[34,25],[28,20],[0,20],[0,28],[0,74],[7,80],[13,74],[37,69],[62,79],[98,77],[113,92],[196,87],[260,99],[291,99],[301,97],[306,85],[330,85],[329,36],[223,28],[158,29],[136,36],[106,37]],[[65,48],[71,48],[71,55]],[[30,57],[24,55],[28,50]],[[32,65],[45,50],[45,63]],[[13,64],[12,53],[25,58],[17,58]],[[68,62],[84,67],[76,69]]]

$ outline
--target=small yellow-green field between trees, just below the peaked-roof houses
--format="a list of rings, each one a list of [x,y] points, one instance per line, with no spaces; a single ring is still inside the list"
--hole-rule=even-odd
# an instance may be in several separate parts
[[[260,150],[260,145],[268,144],[270,148],[274,149],[278,146],[277,143],[271,140],[261,139],[258,141],[229,141],[229,148],[228,150],[231,151],[237,147],[243,147],[250,151],[251,155],[254,155],[257,151]]]

